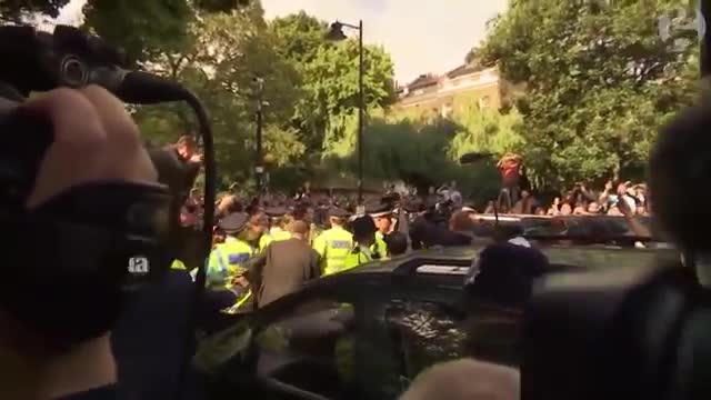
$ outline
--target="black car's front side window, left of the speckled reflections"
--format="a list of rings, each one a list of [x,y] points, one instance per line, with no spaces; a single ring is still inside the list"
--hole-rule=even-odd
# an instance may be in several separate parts
[[[354,383],[356,328],[352,303],[307,300],[257,334],[257,373],[326,398],[343,398]]]

